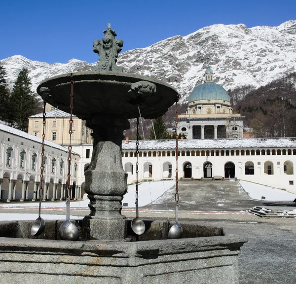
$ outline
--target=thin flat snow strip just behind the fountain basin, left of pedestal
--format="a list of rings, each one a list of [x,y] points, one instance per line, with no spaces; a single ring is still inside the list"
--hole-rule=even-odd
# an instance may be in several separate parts
[[[57,214],[41,214],[44,220],[63,220],[66,219],[66,215]],[[84,216],[70,216],[70,219],[82,219]],[[19,213],[0,213],[1,221],[13,221],[13,220],[36,220],[38,218],[37,214],[19,214]]]

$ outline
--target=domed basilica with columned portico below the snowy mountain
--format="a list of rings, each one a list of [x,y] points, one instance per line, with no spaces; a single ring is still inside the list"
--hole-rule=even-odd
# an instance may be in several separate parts
[[[232,112],[226,90],[213,82],[213,71],[205,71],[204,83],[188,98],[185,114],[179,115],[178,132],[187,139],[243,138],[243,119]]]

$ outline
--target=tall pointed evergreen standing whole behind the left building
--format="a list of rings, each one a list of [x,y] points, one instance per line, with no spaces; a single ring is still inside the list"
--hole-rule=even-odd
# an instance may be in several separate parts
[[[36,113],[37,98],[31,91],[31,80],[29,71],[23,68],[16,78],[11,93],[11,107],[13,111],[9,118],[14,122],[15,127],[28,131],[28,117]]]

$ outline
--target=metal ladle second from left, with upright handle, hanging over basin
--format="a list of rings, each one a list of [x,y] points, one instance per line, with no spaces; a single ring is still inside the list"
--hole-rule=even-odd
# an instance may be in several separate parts
[[[61,240],[64,241],[78,241],[79,231],[78,228],[70,222],[70,196],[66,201],[66,221],[62,223],[59,229]]]

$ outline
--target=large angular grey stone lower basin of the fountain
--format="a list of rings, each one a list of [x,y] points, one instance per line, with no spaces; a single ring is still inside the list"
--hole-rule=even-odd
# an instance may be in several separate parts
[[[46,221],[44,233],[31,237],[32,221],[1,221],[0,283],[238,283],[247,237],[237,230],[182,222],[184,238],[167,240],[172,224],[145,221],[140,241],[128,229],[124,241],[71,242],[59,241],[62,222]]]

